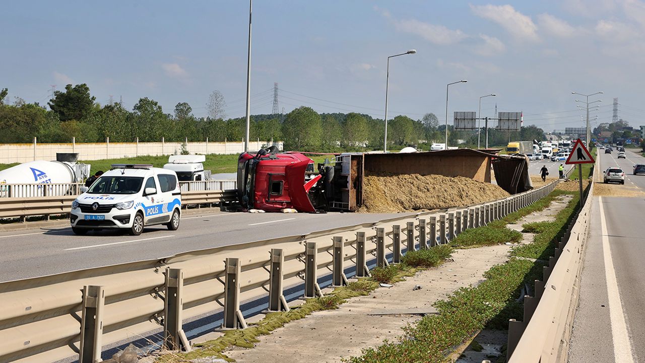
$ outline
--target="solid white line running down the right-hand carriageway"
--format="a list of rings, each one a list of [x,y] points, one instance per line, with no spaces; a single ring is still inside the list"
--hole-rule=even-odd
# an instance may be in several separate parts
[[[620,291],[616,271],[611,260],[607,222],[602,207],[602,196],[598,198],[600,207],[600,230],[602,231],[602,254],[604,255],[605,278],[607,280],[607,295],[609,297],[609,315],[611,321],[611,336],[613,338],[613,357],[617,363],[633,363],[630,335],[627,331],[627,322],[622,311]]]

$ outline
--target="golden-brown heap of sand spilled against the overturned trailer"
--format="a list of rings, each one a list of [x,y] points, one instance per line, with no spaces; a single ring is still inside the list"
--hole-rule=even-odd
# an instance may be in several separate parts
[[[359,213],[445,209],[508,196],[497,185],[462,176],[401,174],[366,176]]]

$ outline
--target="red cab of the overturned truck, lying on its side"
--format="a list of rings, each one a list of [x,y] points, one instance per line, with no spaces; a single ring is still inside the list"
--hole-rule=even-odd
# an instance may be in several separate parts
[[[307,171],[313,171],[313,160],[299,152],[244,152],[237,160],[239,202],[245,209],[313,213],[308,191],[320,176],[306,182]]]

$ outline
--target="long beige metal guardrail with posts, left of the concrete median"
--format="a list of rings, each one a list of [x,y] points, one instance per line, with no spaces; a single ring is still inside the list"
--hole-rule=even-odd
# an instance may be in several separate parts
[[[185,318],[223,308],[224,328],[246,327],[241,301],[261,298],[268,291],[268,310],[286,310],[283,287],[304,285],[304,296],[320,296],[319,275],[332,271],[334,285],[346,283],[350,269],[366,276],[368,258],[373,260],[368,256],[375,257],[378,266],[397,263],[407,250],[448,243],[465,229],[530,205],[555,185],[487,203],[304,236],[4,282],[0,361],[48,362],[77,355],[81,363],[94,362],[104,344],[146,336],[155,329],[163,329],[164,346],[185,347]]]

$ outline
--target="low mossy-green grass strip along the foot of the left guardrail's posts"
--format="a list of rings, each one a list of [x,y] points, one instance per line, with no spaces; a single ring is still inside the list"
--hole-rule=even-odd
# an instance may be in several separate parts
[[[194,351],[190,353],[165,353],[157,358],[157,362],[179,363],[188,362],[195,358],[217,357],[231,361],[222,352],[228,347],[250,348],[257,342],[260,335],[268,335],[273,330],[284,326],[293,320],[299,320],[315,311],[337,309],[348,299],[356,296],[369,295],[379,287],[379,283],[395,284],[406,276],[413,276],[422,269],[437,267],[443,264],[450,257],[452,248],[447,245],[435,246],[420,251],[410,251],[402,263],[388,267],[376,267],[370,271],[369,278],[361,278],[358,281],[350,282],[344,287],[337,287],[331,293],[319,298],[306,300],[300,306],[292,307],[287,312],[268,313],[262,320],[250,324],[247,329],[226,331],[222,337],[196,344]]]

